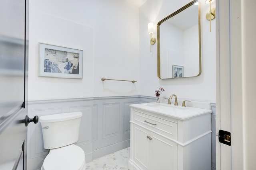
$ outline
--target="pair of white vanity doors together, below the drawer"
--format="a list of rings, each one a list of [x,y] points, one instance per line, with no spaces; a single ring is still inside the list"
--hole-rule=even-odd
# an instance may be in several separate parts
[[[134,125],[134,162],[142,170],[177,170],[177,144]]]

